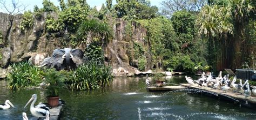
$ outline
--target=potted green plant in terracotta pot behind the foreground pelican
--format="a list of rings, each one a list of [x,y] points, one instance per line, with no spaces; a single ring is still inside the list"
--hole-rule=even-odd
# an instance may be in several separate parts
[[[48,103],[51,107],[57,107],[59,104],[59,89],[64,87],[65,77],[54,69],[48,69],[44,78]]]

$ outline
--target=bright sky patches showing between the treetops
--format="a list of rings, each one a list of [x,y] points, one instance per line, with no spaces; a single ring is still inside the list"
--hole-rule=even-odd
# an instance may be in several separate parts
[[[0,0],[1,1],[1,0]],[[11,5],[11,0],[4,0],[6,1],[6,4]],[[19,1],[19,3],[23,3],[25,4],[26,10],[31,10],[33,11],[33,7],[34,5],[37,5],[39,8],[42,8],[43,5],[43,0],[15,0],[15,1]],[[58,0],[50,0],[51,2],[53,2],[55,5],[59,6],[59,2]],[[164,0],[150,0],[151,5],[156,5],[158,8],[160,7],[160,3],[164,1]],[[87,0],[86,1],[91,7],[97,6],[97,8],[99,9],[100,6],[102,6],[103,3],[105,3],[105,0]],[[116,4],[116,1],[113,0],[113,4]],[[3,9],[0,9],[0,12],[5,12],[3,11]]]

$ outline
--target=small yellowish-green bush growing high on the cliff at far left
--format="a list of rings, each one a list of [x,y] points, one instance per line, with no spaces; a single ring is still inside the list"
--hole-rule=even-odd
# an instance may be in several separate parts
[[[21,24],[19,25],[19,28],[21,28],[22,31],[33,26],[34,18],[31,11],[25,11],[22,17]]]

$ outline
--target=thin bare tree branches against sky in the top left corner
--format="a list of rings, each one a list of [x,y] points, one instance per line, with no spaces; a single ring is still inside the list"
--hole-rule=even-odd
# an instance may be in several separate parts
[[[5,0],[0,0],[0,7],[3,11],[5,11],[9,14],[13,14],[13,15],[15,15],[17,13],[21,13],[22,11],[24,11],[26,9],[26,5],[19,2],[19,0],[17,0],[17,1],[12,0],[11,5],[6,4]]]

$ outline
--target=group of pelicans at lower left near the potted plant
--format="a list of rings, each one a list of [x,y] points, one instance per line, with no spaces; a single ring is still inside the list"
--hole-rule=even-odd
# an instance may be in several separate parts
[[[49,120],[50,119],[50,111],[49,111],[50,107],[48,106],[47,103],[42,103],[42,102],[40,102],[37,106],[34,107],[36,100],[37,100],[37,94],[33,94],[31,99],[28,101],[28,103],[26,103],[24,108],[26,108],[26,106],[28,106],[28,104],[30,102],[32,102],[30,104],[31,114],[34,117],[45,118],[46,120]],[[60,100],[60,103],[61,102],[62,102],[62,104],[64,103],[64,101]],[[9,100],[6,100],[4,104],[0,104],[0,109],[9,109],[10,106],[15,108],[14,105]],[[23,117],[23,120],[28,120],[28,117],[26,116],[25,112],[22,113],[22,117]]]

